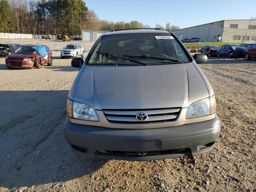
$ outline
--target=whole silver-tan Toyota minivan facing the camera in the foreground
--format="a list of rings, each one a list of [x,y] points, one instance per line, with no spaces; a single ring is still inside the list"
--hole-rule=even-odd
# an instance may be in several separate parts
[[[197,64],[172,33],[103,34],[80,67],[66,103],[65,136],[89,158],[159,160],[210,151],[220,135],[216,99]]]

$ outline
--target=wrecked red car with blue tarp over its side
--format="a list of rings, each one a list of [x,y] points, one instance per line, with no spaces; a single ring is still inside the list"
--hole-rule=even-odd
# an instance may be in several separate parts
[[[40,55],[35,49],[38,45],[22,45],[12,54],[6,56],[5,63],[7,68],[42,68],[44,65],[51,66],[53,62],[52,51],[48,46],[44,46],[48,53],[47,56]],[[42,46],[41,46],[42,47]]]

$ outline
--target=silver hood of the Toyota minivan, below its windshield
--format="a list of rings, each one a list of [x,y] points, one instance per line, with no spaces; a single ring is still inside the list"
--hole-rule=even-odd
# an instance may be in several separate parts
[[[97,110],[150,109],[184,108],[206,97],[209,92],[202,76],[194,64],[187,63],[85,66],[73,100]]]

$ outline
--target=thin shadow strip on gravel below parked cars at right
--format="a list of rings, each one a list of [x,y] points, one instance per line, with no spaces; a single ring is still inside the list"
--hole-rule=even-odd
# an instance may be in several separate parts
[[[208,58],[208,62],[205,64],[256,64],[256,60],[210,57]]]

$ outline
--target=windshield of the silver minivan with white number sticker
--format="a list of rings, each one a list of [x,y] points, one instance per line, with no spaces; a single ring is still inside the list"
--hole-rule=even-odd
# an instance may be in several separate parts
[[[141,33],[103,36],[89,64],[134,64],[131,60],[144,64],[189,62],[171,34]]]

